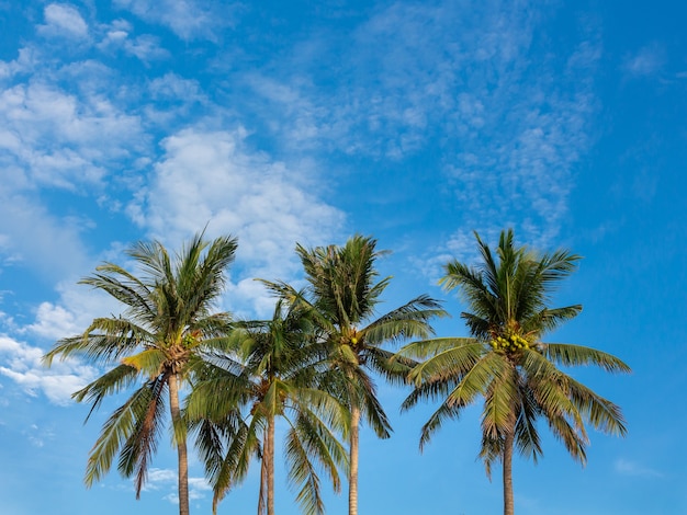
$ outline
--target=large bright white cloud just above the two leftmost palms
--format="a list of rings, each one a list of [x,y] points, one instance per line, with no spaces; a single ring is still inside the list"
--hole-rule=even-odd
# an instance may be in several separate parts
[[[248,152],[245,137],[240,129],[184,129],[168,137],[165,157],[129,214],[170,245],[209,224],[209,236],[239,238],[237,262],[247,277],[288,279],[297,270],[295,243],[326,241],[342,214],[318,199],[302,171]],[[256,291],[252,284],[238,290]]]

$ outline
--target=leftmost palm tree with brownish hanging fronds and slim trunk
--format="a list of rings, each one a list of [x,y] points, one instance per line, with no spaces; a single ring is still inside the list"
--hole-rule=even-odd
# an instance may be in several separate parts
[[[91,403],[87,420],[106,396],[143,380],[104,423],[89,454],[88,487],[110,470],[119,451],[117,468],[124,477],[135,476],[139,497],[157,449],[167,393],[179,458],[179,513],[189,514],[187,427],[179,389],[189,379],[190,363],[222,343],[229,330],[228,314],[213,313],[213,308],[235,251],[236,239],[221,237],[206,242],[202,233],[173,259],[157,241],[138,242],[126,254],[139,266],[139,277],[104,263],[80,282],[111,295],[125,309],[119,317],[94,319],[80,335],[58,341],[44,363],[49,366],[57,356],[76,355],[109,368],[72,396],[78,402]]]

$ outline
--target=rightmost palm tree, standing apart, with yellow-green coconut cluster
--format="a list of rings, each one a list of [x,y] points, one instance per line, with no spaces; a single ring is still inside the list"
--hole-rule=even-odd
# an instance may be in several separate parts
[[[458,261],[446,267],[441,284],[458,288],[471,312],[463,312],[472,337],[444,337],[412,343],[399,357],[426,359],[408,375],[415,390],[403,403],[442,399],[423,426],[420,448],[442,423],[468,405],[484,401],[480,457],[491,477],[503,464],[504,514],[514,514],[511,460],[514,448],[534,461],[542,456],[537,419],[547,420],[571,456],[586,461],[585,422],[606,433],[624,435],[612,402],[576,381],[558,366],[596,365],[611,373],[630,371],[617,357],[589,347],[542,343],[541,337],[577,316],[582,306],[549,308],[550,296],[579,256],[565,250],[538,254],[514,244],[513,230],[500,234],[496,256],[480,239],[478,267]]]

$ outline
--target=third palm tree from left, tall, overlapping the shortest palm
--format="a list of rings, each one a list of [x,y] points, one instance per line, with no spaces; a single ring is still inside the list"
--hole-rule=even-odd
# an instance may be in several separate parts
[[[382,345],[427,337],[433,334],[429,320],[446,314],[439,302],[419,296],[375,318],[380,297],[391,281],[391,277],[385,277],[375,282],[379,276],[375,261],[384,254],[375,248],[376,240],[362,236],[350,238],[344,247],[308,250],[299,244],[296,253],[309,283],[307,294],[303,296],[284,283],[264,282],[284,298],[292,301],[299,299],[309,306],[330,347],[329,360],[338,374],[337,394],[351,411],[349,515],[358,514],[360,420],[365,416],[381,438],[387,438],[391,431],[369,371],[379,373],[392,382],[403,384],[414,362],[391,362],[393,353],[382,348]]]

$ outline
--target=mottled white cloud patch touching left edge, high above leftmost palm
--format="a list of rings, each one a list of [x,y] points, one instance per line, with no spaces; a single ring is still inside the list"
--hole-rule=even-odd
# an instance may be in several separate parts
[[[26,169],[32,182],[61,188],[98,184],[103,164],[140,148],[140,121],[104,96],[80,99],[47,83],[0,93],[2,164]],[[21,135],[21,139],[13,137]]]

